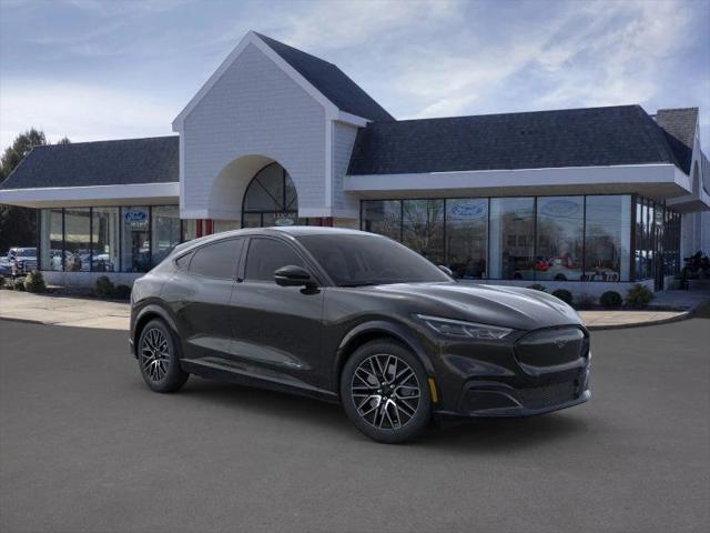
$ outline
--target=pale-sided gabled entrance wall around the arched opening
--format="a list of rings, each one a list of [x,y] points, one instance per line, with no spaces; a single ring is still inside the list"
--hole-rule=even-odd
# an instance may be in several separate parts
[[[213,187],[227,163],[252,154],[277,161],[288,171],[300,209],[325,204],[325,111],[253,44],[187,114],[181,135],[183,211],[237,218],[239,191],[246,183],[225,188],[235,192],[234,198],[221,198],[220,209],[214,205]],[[225,213],[225,204],[234,211]]]

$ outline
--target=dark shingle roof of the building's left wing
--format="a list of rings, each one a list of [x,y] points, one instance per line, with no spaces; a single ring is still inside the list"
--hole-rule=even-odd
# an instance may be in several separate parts
[[[176,135],[36,147],[0,189],[179,181]]]

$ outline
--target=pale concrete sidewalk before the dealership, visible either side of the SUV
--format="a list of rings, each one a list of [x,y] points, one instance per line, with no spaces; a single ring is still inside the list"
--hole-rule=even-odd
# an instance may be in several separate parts
[[[661,305],[687,303],[686,311],[580,311],[590,330],[611,330],[639,325],[662,324],[690,318],[690,310],[710,299],[688,291],[666,291]],[[704,292],[704,291],[703,291]],[[657,303],[656,301],[653,303]],[[0,291],[0,319],[21,320],[51,325],[77,328],[129,329],[130,306],[123,302],[108,302],[91,298],[52,296],[27,292]]]

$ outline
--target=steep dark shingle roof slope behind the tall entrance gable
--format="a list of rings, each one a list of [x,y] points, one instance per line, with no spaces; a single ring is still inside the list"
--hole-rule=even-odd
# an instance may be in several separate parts
[[[270,37],[256,34],[339,110],[374,121],[395,120],[335,64]]]

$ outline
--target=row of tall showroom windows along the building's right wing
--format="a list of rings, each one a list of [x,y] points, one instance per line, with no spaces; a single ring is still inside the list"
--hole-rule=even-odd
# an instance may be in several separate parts
[[[459,279],[630,281],[632,240],[637,272],[643,268],[652,275],[656,257],[666,272],[677,273],[680,217],[637,200],[628,194],[363,200],[361,229],[396,240],[406,235],[405,244],[424,250]]]

